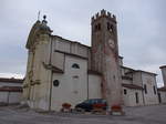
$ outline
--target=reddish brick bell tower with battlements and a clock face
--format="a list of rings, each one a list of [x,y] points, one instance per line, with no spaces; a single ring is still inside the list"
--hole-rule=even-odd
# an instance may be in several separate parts
[[[102,10],[92,17],[92,70],[102,76],[102,95],[108,105],[122,104],[116,17]]]

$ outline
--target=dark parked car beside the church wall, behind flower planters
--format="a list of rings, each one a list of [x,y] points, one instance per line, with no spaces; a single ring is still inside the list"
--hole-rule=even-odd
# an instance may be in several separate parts
[[[106,110],[107,104],[106,104],[106,100],[104,99],[90,99],[86,100],[82,103],[79,103],[77,105],[75,105],[75,110],[80,111],[80,112],[91,112],[94,106],[100,106],[102,107],[102,110]]]

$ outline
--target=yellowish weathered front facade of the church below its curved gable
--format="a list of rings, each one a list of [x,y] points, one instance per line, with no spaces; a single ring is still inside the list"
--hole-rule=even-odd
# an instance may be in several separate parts
[[[51,71],[43,65],[50,63],[51,38],[40,35],[39,42],[34,44],[33,58],[23,85],[23,99],[32,108],[49,110],[49,82]]]

